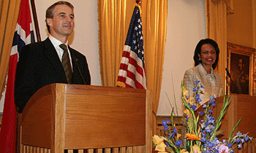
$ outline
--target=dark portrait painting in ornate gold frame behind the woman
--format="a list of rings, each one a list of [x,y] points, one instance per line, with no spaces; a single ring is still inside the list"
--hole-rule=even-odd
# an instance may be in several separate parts
[[[227,93],[255,95],[255,49],[227,43]]]

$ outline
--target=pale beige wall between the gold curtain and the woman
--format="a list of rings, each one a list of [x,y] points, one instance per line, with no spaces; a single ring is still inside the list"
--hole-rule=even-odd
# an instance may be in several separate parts
[[[167,39],[158,116],[168,116],[171,107],[182,115],[181,80],[194,67],[193,55],[200,39],[206,39],[204,0],[168,0]],[[169,101],[170,100],[170,101]]]

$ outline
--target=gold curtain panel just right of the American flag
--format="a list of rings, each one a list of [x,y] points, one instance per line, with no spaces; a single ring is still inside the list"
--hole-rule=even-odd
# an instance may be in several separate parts
[[[162,86],[162,70],[167,33],[167,0],[142,1],[143,34],[148,90],[153,92],[153,133],[157,127],[157,109]]]

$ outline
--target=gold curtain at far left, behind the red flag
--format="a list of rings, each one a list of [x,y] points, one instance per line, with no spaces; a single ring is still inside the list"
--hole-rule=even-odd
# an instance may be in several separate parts
[[[1,0],[0,3],[0,87],[1,93],[5,87],[7,69],[9,65],[10,52],[12,49],[12,38],[15,32],[18,13],[20,9],[20,0]],[[0,96],[1,97],[1,96]]]

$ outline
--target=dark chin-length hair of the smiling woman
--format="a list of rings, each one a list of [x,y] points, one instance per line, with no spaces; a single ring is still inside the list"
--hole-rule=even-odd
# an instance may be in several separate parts
[[[194,53],[195,66],[202,63],[202,61],[199,59],[198,55],[201,55],[201,47],[203,46],[203,44],[211,44],[211,46],[214,47],[214,49],[217,53],[216,60],[215,60],[214,64],[212,65],[212,68],[215,69],[218,64],[218,61],[219,61],[219,47],[218,47],[217,42],[215,42],[213,39],[201,39],[197,43],[197,47],[195,47],[195,53]]]

